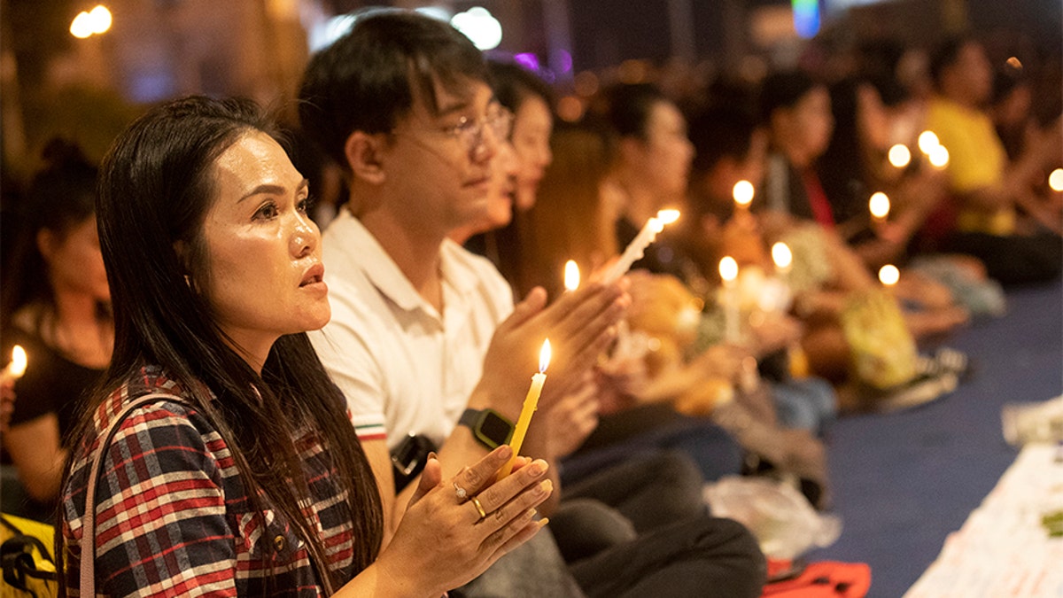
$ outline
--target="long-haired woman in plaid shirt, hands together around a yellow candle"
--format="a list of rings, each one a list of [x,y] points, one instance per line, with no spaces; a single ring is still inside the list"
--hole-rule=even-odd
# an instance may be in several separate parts
[[[500,447],[445,482],[429,459],[383,537],[372,470],[305,335],[331,316],[308,203],[251,102],[170,102],[108,152],[98,218],[115,350],[64,481],[67,592],[90,558],[88,509],[89,579],[107,595],[439,596],[543,525],[545,463],[485,488]],[[146,395],[161,396],[108,442]]]

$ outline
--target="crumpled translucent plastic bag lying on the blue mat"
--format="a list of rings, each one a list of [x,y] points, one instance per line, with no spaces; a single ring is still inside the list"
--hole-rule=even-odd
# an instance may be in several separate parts
[[[772,559],[830,546],[842,533],[840,518],[817,513],[800,492],[771,478],[726,476],[706,484],[705,499],[712,515],[744,525]]]

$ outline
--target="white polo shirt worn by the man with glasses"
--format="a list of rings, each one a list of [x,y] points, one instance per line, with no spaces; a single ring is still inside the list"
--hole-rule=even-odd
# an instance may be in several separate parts
[[[479,381],[494,329],[512,312],[509,285],[489,261],[448,239],[440,316],[349,212],[323,244],[332,320],[310,340],[347,396],[358,436],[386,433],[393,448],[419,433],[441,445]]]

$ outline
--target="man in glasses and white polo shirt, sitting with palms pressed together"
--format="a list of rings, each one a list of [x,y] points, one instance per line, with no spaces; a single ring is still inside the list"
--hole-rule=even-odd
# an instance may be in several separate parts
[[[361,16],[311,60],[300,96],[304,130],[344,167],[351,190],[324,234],[333,319],[313,340],[348,397],[393,529],[414,485],[395,497],[389,446],[427,436],[446,476],[504,443],[549,335],[555,356],[522,450],[549,459],[542,422],[586,381],[629,298],[623,282],[588,284],[549,308],[538,289],[513,309],[493,266],[446,239],[482,218],[511,118],[479,52],[449,24],[402,11]],[[568,578],[550,559],[508,585],[466,591],[542,596],[578,592],[564,584],[575,579],[591,595],[757,596],[763,579],[748,532],[708,517],[605,551]]]

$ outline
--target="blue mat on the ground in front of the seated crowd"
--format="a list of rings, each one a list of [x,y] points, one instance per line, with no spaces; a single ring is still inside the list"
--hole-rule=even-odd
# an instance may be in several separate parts
[[[1007,315],[945,345],[975,368],[956,392],[907,412],[845,417],[828,439],[842,535],[808,558],[870,564],[870,597],[902,596],[1014,461],[1001,405],[1063,394],[1063,286],[1009,290]]]

